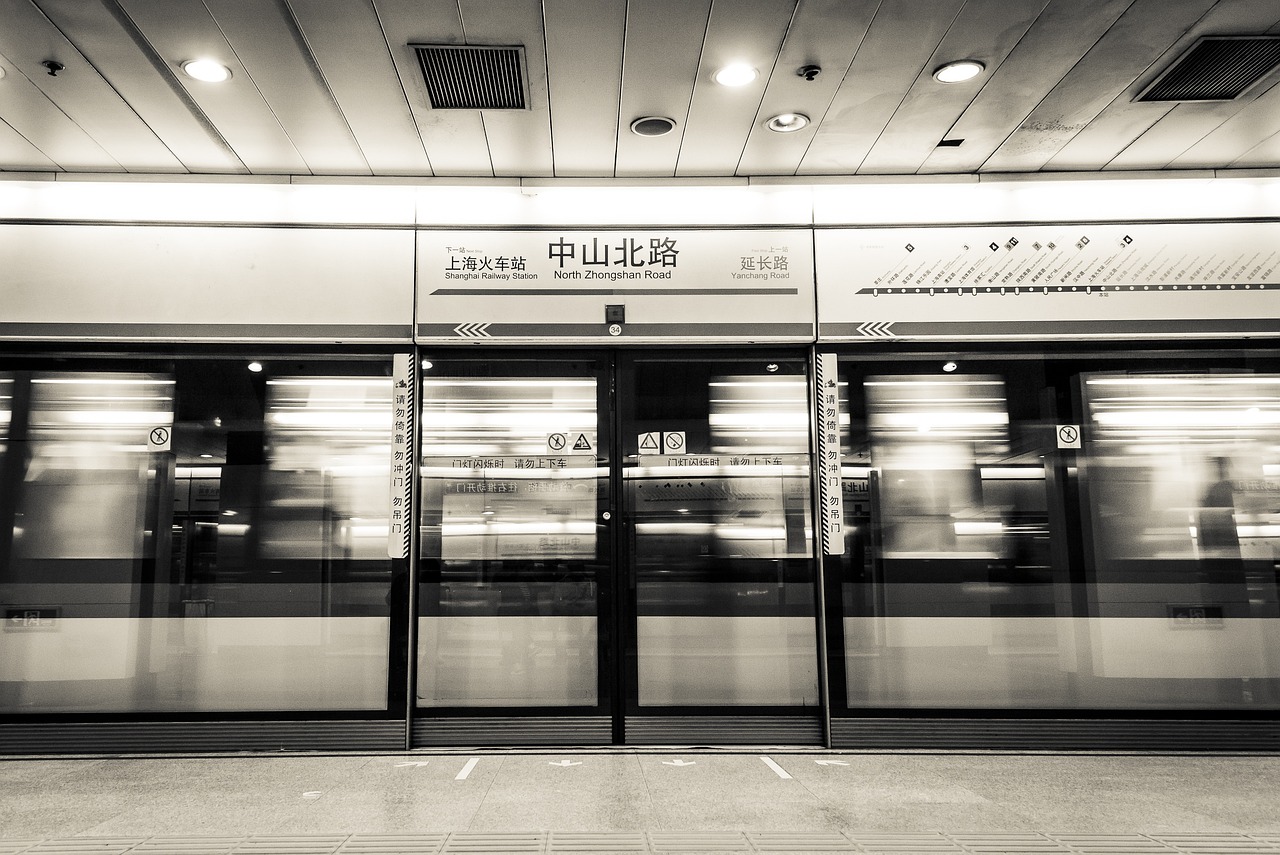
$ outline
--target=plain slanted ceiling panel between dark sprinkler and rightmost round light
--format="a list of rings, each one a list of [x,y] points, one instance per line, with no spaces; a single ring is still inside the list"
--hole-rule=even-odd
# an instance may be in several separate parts
[[[806,175],[856,173],[946,36],[964,0],[883,0],[800,164]],[[932,70],[932,69],[931,69]],[[936,140],[933,142],[937,142]]]

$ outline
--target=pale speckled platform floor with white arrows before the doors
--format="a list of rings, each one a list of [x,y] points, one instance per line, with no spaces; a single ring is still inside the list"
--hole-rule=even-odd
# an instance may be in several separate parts
[[[1280,854],[1280,755],[0,759],[0,855]]]

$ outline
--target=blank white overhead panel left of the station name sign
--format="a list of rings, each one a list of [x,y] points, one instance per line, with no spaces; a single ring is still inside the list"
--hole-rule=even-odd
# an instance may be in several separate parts
[[[0,337],[404,340],[413,236],[389,229],[0,227]]]

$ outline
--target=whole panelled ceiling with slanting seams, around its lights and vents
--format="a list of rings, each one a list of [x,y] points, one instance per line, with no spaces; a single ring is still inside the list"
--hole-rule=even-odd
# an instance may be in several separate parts
[[[1274,169],[1276,72],[1231,100],[1138,99],[1204,36],[1277,33],[1280,0],[0,0],[0,170]],[[522,49],[526,109],[433,109],[417,44]],[[230,79],[182,72],[205,56]],[[938,83],[932,72],[954,59],[986,70]],[[732,60],[759,77],[714,83]],[[806,79],[806,65],[820,73]],[[812,122],[765,127],[787,113]],[[637,136],[643,116],[673,129]]]

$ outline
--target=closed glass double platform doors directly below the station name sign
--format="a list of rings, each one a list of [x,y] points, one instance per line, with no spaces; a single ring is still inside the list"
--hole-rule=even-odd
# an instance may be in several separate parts
[[[819,741],[805,365],[424,361],[413,744]]]

